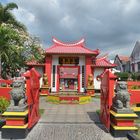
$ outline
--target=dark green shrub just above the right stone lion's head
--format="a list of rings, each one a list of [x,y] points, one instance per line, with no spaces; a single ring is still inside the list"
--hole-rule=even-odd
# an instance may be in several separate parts
[[[127,81],[128,77],[130,76],[130,73],[128,73],[128,72],[116,72],[115,75],[118,77],[118,80]]]

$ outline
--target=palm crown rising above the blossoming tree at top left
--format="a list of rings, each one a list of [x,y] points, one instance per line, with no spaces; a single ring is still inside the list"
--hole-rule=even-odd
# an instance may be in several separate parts
[[[2,23],[9,23],[13,24],[16,28],[21,28],[25,31],[26,27],[22,23],[17,21],[14,15],[11,13],[11,10],[14,9],[18,9],[16,3],[8,3],[5,6],[0,3],[0,25]]]

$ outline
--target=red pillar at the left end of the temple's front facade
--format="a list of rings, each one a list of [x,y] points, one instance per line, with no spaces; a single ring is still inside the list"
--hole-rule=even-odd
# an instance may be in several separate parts
[[[49,87],[51,86],[51,67],[52,67],[52,56],[46,56],[46,63],[45,63],[45,73],[48,76],[48,84]]]

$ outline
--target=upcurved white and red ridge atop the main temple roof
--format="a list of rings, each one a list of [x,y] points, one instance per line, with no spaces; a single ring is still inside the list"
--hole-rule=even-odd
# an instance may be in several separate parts
[[[56,39],[55,37],[53,37],[53,42],[57,45],[62,45],[62,46],[76,46],[76,45],[83,45],[83,43],[85,42],[85,39],[82,38],[81,40],[79,40],[75,43],[64,43],[64,42]]]

